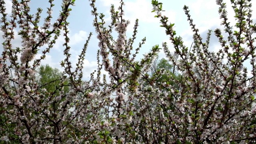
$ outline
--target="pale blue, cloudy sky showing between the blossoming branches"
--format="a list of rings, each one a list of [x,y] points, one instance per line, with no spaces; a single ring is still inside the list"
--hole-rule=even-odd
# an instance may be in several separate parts
[[[20,1],[20,0],[19,0]],[[98,8],[98,12],[103,12],[106,15],[106,22],[110,20],[110,6],[114,4],[116,10],[119,6],[120,0],[96,0],[96,7]],[[135,41],[134,47],[138,46],[138,43],[146,36],[146,43],[142,46],[140,53],[138,54],[137,60],[142,58],[142,55],[146,52],[149,52],[152,46],[159,44],[162,46],[162,42],[167,42],[170,48],[170,51],[174,51],[174,48],[168,40],[168,36],[165,34],[164,28],[160,27],[160,19],[154,18],[154,13],[152,13],[152,5],[151,0],[123,0],[125,3],[124,6],[124,19],[130,20],[130,26],[128,27],[127,36],[130,37],[132,35],[132,28],[134,26],[134,22],[136,18],[139,19],[139,27],[138,27],[138,35]],[[220,26],[220,19],[218,14],[218,5],[215,0],[158,0],[163,3],[163,15],[167,16],[171,23],[175,23],[174,30],[176,30],[177,36],[181,36],[183,38],[184,44],[188,47],[192,44],[192,30],[190,29],[189,23],[187,21],[187,17],[183,11],[183,6],[188,6],[190,10],[190,15],[194,20],[194,24],[200,30],[200,34],[202,36],[203,41],[206,40],[206,33],[208,29],[214,30],[215,28],[223,28]],[[227,3],[227,10],[229,21],[231,24],[235,24],[236,20],[234,19],[234,12],[232,10],[230,1],[224,0]],[[12,2],[11,0],[5,0],[6,2],[6,12],[11,14]],[[61,10],[62,0],[54,0],[54,8],[53,8],[53,19],[52,22],[56,20],[59,15],[59,11]],[[90,32],[93,33],[93,36],[89,42],[89,46],[86,52],[86,59],[84,60],[84,79],[88,79],[90,77],[90,73],[96,70],[97,62],[96,62],[96,52],[98,48],[98,39],[96,38],[95,29],[92,26],[93,16],[91,15],[92,8],[90,7],[89,0],[76,0],[76,6],[72,6],[72,11],[70,12],[70,16],[68,18],[68,22],[70,22],[69,30],[70,30],[70,46],[71,46],[71,62],[75,67],[77,62],[78,55],[80,54],[84,43],[87,40],[87,37]],[[42,8],[42,22],[46,17],[46,8],[50,6],[48,0],[31,0],[29,4],[31,8],[30,14],[35,14],[37,8]],[[256,10],[256,1],[252,1],[252,10]],[[253,19],[256,19],[256,15],[252,16]],[[255,20],[254,20],[255,22]],[[1,24],[2,25],[2,24]],[[15,40],[13,40],[12,44],[14,47],[20,46],[21,38],[17,35],[18,29],[15,31]],[[2,35],[2,32],[0,32]],[[116,36],[116,35],[115,35]],[[2,43],[2,39],[0,39]],[[54,48],[46,55],[46,59],[42,61],[41,64],[49,64],[52,67],[63,68],[60,67],[60,61],[64,60],[62,44],[64,43],[64,37],[61,36]],[[42,47],[44,49],[45,47]],[[210,41],[210,51],[218,51],[220,49],[220,44],[214,33],[212,32],[212,37]],[[0,48],[0,52],[2,52]],[[164,52],[161,51],[159,54],[160,58],[164,58]],[[40,54],[36,56],[39,58]],[[249,64],[247,62],[247,64]],[[246,64],[246,65],[247,65]],[[250,70],[250,68],[248,69]],[[107,72],[103,72],[103,74],[107,74]]]

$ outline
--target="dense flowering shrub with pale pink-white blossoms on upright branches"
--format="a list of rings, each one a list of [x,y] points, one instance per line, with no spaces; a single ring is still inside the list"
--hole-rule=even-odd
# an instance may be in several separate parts
[[[90,0],[93,25],[99,50],[96,77],[82,81],[83,60],[90,33],[79,55],[74,70],[70,62],[68,22],[70,6],[75,0],[63,0],[62,11],[56,22],[51,23],[53,0],[47,18],[39,26],[42,9],[30,15],[28,2],[13,0],[12,16],[7,20],[4,0],[0,0],[1,30],[4,33],[3,52],[0,57],[0,136],[1,140],[22,144],[206,144],[206,143],[252,143],[256,140],[255,46],[252,34],[256,26],[251,20],[250,0],[231,0],[237,23],[232,29],[226,14],[226,4],[216,0],[220,6],[220,18],[228,34],[225,40],[222,30],[214,30],[222,49],[209,51],[211,30],[206,42],[193,24],[187,6],[184,11],[194,32],[194,45],[189,49],[182,38],[176,36],[174,24],[162,16],[162,3],[152,0],[153,11],[175,48],[168,50],[166,42],[162,48],[166,57],[181,73],[180,78],[169,76],[170,82],[157,82],[161,74],[147,73],[156,58],[160,46],[136,61],[138,50],[146,41],[142,39],[135,53],[138,20],[134,25],[132,38],[126,38],[130,22],[124,19],[124,2],[116,11],[110,8],[111,24],[106,26],[104,14],[98,14],[95,0]],[[21,48],[14,48],[14,28],[19,26],[22,38]],[[63,79],[56,86],[58,94],[48,92],[34,80],[36,68],[64,31]],[[111,33],[118,32],[114,40]],[[42,56],[35,55],[42,46]],[[21,54],[18,59],[18,54]],[[113,56],[111,62],[109,55]],[[100,62],[100,58],[102,62]],[[224,63],[224,58],[228,62]],[[243,62],[250,59],[252,77],[248,78]],[[31,64],[32,62],[32,64]],[[110,82],[100,72],[108,72]],[[164,70],[162,70],[164,71]],[[68,82],[68,84],[66,84]],[[148,83],[148,86],[143,84]],[[177,86],[178,85],[178,86]],[[68,92],[64,87],[68,86]],[[115,94],[115,95],[114,95]],[[139,108],[139,109],[138,109]],[[90,114],[90,118],[87,118]],[[102,120],[103,119],[103,120]]]

